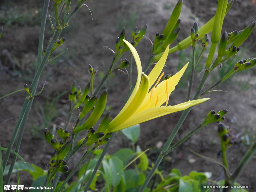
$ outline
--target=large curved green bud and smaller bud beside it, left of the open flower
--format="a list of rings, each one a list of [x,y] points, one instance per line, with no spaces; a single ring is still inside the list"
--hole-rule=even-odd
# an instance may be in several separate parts
[[[90,129],[100,118],[102,115],[106,102],[107,102],[107,90],[103,91],[98,99],[97,95],[94,95],[92,98],[86,97],[84,100],[84,108],[79,115],[79,119],[81,119],[85,114],[87,114],[91,109],[93,109],[89,118],[80,126],[76,127],[73,131],[74,133],[79,133],[82,130]],[[98,101],[97,101],[98,99]],[[97,101],[97,103],[96,103]],[[94,104],[96,103],[95,107],[93,108]]]

